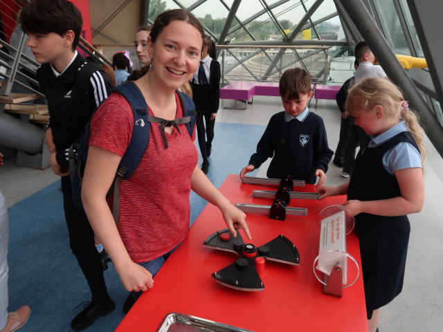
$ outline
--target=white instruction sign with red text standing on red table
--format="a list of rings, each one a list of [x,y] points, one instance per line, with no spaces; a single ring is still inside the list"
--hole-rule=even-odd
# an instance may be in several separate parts
[[[326,275],[330,275],[334,265],[340,265],[343,268],[343,284],[346,284],[345,211],[332,214],[332,216],[322,219],[320,223],[320,248],[318,250],[317,268]]]

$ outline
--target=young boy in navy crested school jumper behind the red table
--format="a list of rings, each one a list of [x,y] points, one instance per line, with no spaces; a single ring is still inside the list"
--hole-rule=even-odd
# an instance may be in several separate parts
[[[301,68],[291,68],[280,78],[280,96],[284,111],[274,114],[257,144],[257,152],[240,178],[272,158],[266,176],[284,178],[288,174],[317,187],[326,181],[326,172],[334,151],[327,145],[325,124],[307,108],[311,100],[311,76]]]

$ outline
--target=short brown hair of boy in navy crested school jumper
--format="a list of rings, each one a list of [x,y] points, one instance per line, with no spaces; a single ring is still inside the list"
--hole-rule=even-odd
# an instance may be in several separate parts
[[[282,98],[300,99],[300,95],[311,92],[311,75],[302,68],[288,69],[280,78],[278,89]]]

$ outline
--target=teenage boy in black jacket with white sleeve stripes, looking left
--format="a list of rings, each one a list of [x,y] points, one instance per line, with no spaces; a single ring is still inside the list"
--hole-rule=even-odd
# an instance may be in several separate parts
[[[42,66],[37,78],[48,100],[50,122],[46,143],[51,151],[53,172],[62,177],[63,206],[69,243],[91,289],[91,302],[74,317],[71,328],[87,329],[96,318],[114,310],[103,276],[102,261],[86,214],[75,209],[71,199],[68,149],[80,138],[91,113],[111,92],[101,68],[87,62],[75,48],[82,31],[82,15],[65,0],[34,0],[21,12],[35,59]]]

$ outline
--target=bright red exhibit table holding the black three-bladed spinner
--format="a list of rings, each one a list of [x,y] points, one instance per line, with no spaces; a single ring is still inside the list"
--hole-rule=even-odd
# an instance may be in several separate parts
[[[220,187],[233,204],[272,204],[273,199],[254,198],[253,190],[277,190],[277,187],[242,183],[235,174],[230,174]],[[294,191],[316,189],[307,185],[294,187]],[[256,332],[368,331],[361,276],[344,289],[343,297],[336,297],[323,293],[323,285],[312,268],[319,248],[318,214],[323,208],[344,201],[344,196],[323,201],[292,199],[289,206],[308,208],[308,215],[287,215],[285,221],[269,219],[266,214],[247,213],[253,239],[248,240],[240,230],[245,243],[258,247],[283,234],[300,253],[300,266],[266,261],[260,276],[264,291],[238,291],[212,279],[212,273],[232,264],[237,255],[203,246],[207,237],[226,228],[221,212],[208,204],[181,246],[154,278],[154,287],[143,293],[116,331],[154,332],[171,312]],[[354,232],[347,235],[347,252],[360,264],[359,242]],[[349,279],[354,279],[356,268],[348,265]]]

